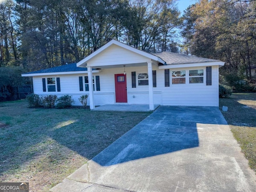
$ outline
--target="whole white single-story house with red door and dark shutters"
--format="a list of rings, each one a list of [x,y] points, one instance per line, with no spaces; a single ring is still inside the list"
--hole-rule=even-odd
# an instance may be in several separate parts
[[[150,54],[116,40],[76,64],[28,72],[39,95],[88,94],[90,108],[104,104],[218,106],[220,60],[159,52]]]

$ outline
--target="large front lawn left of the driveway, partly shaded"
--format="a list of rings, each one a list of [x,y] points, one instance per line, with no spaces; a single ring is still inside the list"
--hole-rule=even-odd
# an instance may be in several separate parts
[[[0,102],[0,181],[48,191],[149,114]]]

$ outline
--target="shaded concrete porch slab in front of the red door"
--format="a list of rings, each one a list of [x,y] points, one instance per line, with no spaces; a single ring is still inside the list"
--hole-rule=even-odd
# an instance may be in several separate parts
[[[159,105],[154,105],[154,110],[158,108]],[[149,110],[149,105],[139,105],[139,104],[107,104],[98,106],[92,111],[129,111],[129,112],[147,112]]]

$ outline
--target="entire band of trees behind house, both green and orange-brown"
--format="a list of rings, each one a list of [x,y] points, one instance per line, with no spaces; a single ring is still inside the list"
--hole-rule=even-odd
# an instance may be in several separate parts
[[[198,0],[183,16],[177,0],[6,0],[0,4],[0,68],[78,62],[116,39],[147,52],[222,60],[222,75],[251,79],[255,25],[255,0]]]

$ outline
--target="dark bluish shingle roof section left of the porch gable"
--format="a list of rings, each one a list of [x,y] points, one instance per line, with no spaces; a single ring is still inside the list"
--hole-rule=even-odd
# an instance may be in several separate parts
[[[94,70],[94,69],[92,69]],[[25,74],[34,74],[34,73],[57,73],[57,72],[71,72],[71,71],[87,71],[87,68],[77,67],[76,63],[66,64],[58,67],[52,67],[48,69],[42,69],[38,71],[32,71]]]

